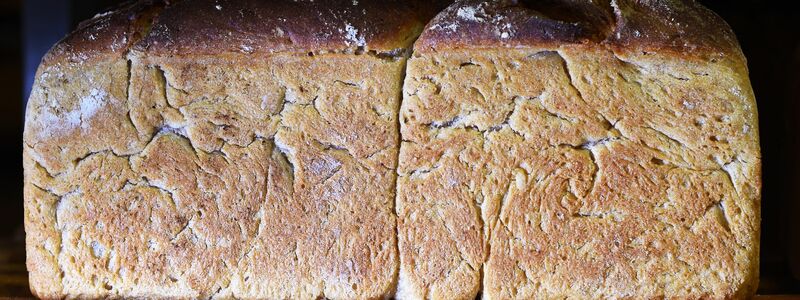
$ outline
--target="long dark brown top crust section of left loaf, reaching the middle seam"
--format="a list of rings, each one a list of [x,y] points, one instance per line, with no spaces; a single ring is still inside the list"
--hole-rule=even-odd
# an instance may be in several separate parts
[[[426,17],[417,1],[189,0],[165,9],[136,50],[156,55],[410,47]]]

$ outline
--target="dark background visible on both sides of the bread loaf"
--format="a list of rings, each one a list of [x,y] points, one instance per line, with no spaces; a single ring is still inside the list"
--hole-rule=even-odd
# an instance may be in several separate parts
[[[118,2],[0,0],[0,296],[29,295],[21,152],[23,103],[36,66],[78,22]],[[764,183],[759,293],[800,294],[800,11],[775,1],[700,2],[736,32],[758,101]]]

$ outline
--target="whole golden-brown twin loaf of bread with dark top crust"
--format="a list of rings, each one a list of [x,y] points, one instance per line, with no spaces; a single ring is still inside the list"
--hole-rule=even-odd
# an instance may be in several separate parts
[[[757,115],[722,20],[438,6],[139,1],[81,24],[28,104],[32,291],[754,293]]]

